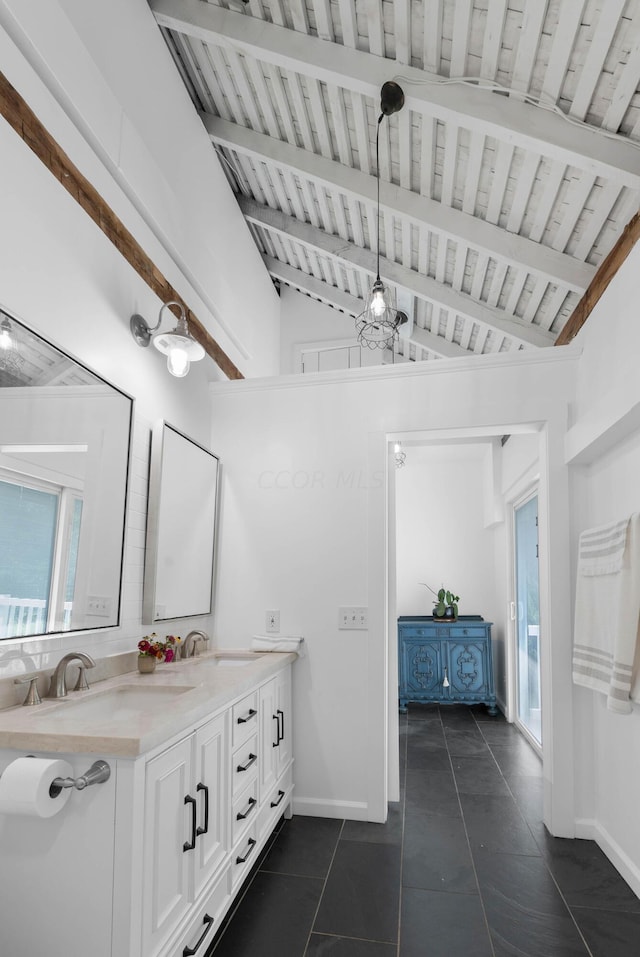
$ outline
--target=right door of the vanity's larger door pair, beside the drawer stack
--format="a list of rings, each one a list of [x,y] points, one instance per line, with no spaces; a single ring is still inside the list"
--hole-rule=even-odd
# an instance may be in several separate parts
[[[195,736],[197,826],[195,894],[222,864],[229,849],[229,742],[227,713],[205,724]]]

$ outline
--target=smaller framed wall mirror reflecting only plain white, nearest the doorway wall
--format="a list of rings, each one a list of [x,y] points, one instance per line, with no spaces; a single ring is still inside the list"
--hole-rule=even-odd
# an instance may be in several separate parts
[[[151,441],[145,555],[145,624],[212,609],[217,456],[159,422]]]

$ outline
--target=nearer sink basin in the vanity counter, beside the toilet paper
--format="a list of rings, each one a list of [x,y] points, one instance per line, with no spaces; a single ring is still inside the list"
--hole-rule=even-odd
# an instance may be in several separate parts
[[[46,714],[56,722],[82,720],[96,724],[103,721],[125,721],[153,712],[158,705],[170,704],[174,698],[191,691],[191,686],[153,685],[148,688],[138,685],[121,685],[110,691],[96,692],[81,701],[72,698],[61,701],[54,708],[35,712]]]

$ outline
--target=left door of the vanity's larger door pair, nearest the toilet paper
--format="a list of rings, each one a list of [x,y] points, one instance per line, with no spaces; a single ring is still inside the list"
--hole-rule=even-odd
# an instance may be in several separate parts
[[[190,736],[147,765],[143,954],[155,953],[189,909],[197,809],[192,762]]]

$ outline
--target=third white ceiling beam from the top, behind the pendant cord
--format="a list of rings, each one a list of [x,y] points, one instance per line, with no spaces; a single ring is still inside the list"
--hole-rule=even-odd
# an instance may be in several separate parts
[[[354,246],[352,243],[345,242],[340,236],[332,236],[308,223],[301,223],[280,210],[261,206],[260,203],[246,197],[239,197],[239,204],[249,222],[375,276],[377,258],[376,254],[369,249]],[[438,283],[429,276],[422,276],[384,257],[380,258],[380,274],[388,282],[409,289],[415,296],[430,303],[437,303],[464,319],[477,322],[484,328],[493,329],[500,335],[508,336],[518,345],[536,348],[553,345],[554,336],[550,333],[505,316],[499,310],[478,303],[470,296],[457,292],[451,286]]]

